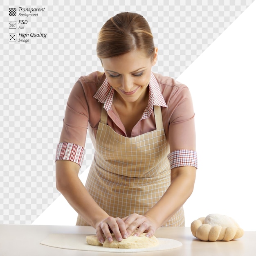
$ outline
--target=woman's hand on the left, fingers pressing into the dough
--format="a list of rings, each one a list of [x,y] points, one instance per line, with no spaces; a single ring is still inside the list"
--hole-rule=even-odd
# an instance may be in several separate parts
[[[114,233],[117,241],[121,241],[123,238],[127,238],[126,225],[121,218],[113,218],[109,216],[108,218],[101,220],[101,222],[99,222],[95,228],[97,238],[101,244],[103,244],[105,240],[103,238],[103,234],[106,236],[110,243],[113,241],[111,232]]]

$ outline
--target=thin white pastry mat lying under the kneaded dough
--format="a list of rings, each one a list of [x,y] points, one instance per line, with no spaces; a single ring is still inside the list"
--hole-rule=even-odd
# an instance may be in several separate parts
[[[81,250],[81,251],[96,251],[96,252],[153,252],[168,249],[174,249],[182,246],[177,240],[169,238],[157,238],[159,245],[150,248],[141,249],[119,249],[107,248],[102,246],[88,245],[86,243],[85,234],[49,234],[40,244],[51,247]]]

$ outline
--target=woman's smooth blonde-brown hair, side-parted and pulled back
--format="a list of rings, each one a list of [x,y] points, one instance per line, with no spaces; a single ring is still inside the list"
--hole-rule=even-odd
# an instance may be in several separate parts
[[[146,19],[137,13],[122,12],[107,20],[99,32],[97,56],[112,58],[133,50],[154,56],[153,35]]]

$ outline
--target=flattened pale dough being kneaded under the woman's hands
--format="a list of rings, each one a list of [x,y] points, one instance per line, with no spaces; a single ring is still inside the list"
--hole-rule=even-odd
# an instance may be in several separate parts
[[[110,243],[105,239],[103,245],[99,243],[97,236],[86,236],[86,242],[89,245],[102,245],[103,247],[110,248],[122,248],[122,249],[138,249],[138,248],[149,248],[158,245],[158,240],[155,236],[150,238],[145,236],[146,233],[142,233],[140,236],[129,236],[118,242],[115,235],[112,234],[113,242]]]

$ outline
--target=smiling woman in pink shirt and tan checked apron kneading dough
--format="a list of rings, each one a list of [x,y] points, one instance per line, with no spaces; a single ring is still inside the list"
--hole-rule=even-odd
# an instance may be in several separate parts
[[[104,72],[81,76],[67,101],[56,150],[56,186],[101,243],[160,226],[184,226],[197,157],[188,88],[153,74],[157,48],[148,22],[119,13],[99,32]],[[95,148],[85,186],[78,177],[89,128]],[[68,161],[67,161],[68,160]]]

